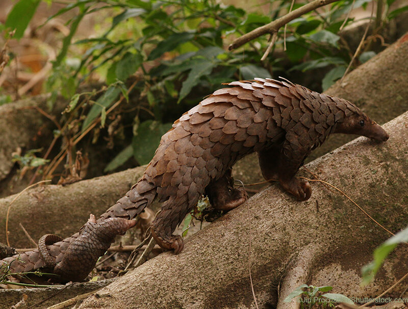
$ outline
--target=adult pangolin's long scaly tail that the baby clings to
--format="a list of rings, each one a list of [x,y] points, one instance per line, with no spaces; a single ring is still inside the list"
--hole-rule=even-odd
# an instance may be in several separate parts
[[[133,219],[140,214],[145,207],[150,205],[155,199],[156,194],[156,186],[142,177],[115,205],[102,214],[97,222],[110,217]],[[69,244],[79,236],[79,233],[75,233],[71,237],[46,246],[50,257],[55,263],[62,261]],[[6,272],[18,273],[32,271],[44,266],[45,263],[41,259],[38,249],[25,251],[21,254],[0,260],[0,275]]]

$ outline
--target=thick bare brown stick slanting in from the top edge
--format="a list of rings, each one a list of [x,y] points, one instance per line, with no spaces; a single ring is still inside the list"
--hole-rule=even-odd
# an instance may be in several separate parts
[[[267,33],[272,33],[272,32],[276,32],[280,27],[282,27],[283,25],[287,24],[288,22],[290,22],[291,20],[300,17],[301,15],[311,12],[317,8],[323,7],[325,5],[328,5],[330,3],[334,3],[334,2],[338,2],[339,0],[314,0],[311,3],[305,4],[304,6],[282,16],[279,17],[278,19],[260,26],[246,34],[244,34],[243,36],[237,38],[234,40],[234,42],[232,42],[230,44],[230,46],[228,46],[229,50],[232,49],[236,49],[238,47],[240,47],[241,45],[256,39],[264,34]]]

